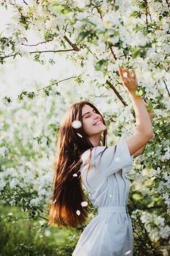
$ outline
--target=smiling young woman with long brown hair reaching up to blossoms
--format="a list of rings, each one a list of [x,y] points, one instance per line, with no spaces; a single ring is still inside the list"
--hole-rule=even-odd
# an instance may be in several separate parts
[[[98,210],[82,232],[73,256],[133,255],[133,229],[126,205],[130,182],[125,173],[153,137],[153,127],[146,103],[135,95],[138,81],[134,70],[120,67],[119,72],[135,109],[133,135],[107,147],[104,118],[87,101],[73,104],[61,121],[49,223],[60,229],[85,223],[88,208],[82,184]]]

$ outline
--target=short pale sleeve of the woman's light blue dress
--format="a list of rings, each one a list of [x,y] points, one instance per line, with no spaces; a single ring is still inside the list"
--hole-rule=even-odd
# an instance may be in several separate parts
[[[125,172],[130,171],[133,165],[133,155],[130,155],[126,140],[122,140],[112,147],[94,147],[91,153],[91,162],[104,176],[109,176],[120,169],[124,169]]]

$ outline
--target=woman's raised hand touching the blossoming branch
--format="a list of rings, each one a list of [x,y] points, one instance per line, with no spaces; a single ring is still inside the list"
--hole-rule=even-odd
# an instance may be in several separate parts
[[[118,71],[120,73],[120,80],[126,90],[128,90],[129,93],[135,93],[135,91],[138,90],[138,80],[134,69],[130,72],[128,69],[119,67]]]

